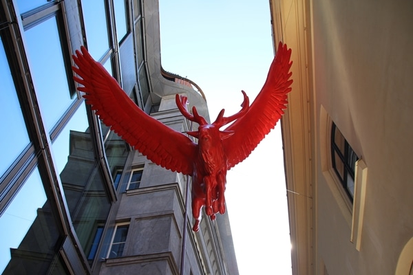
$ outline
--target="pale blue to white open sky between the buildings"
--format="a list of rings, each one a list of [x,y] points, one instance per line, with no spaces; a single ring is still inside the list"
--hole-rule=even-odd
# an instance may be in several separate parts
[[[160,0],[162,67],[197,83],[211,120],[252,102],[273,60],[268,0]],[[226,203],[240,274],[291,274],[279,123],[227,175]]]

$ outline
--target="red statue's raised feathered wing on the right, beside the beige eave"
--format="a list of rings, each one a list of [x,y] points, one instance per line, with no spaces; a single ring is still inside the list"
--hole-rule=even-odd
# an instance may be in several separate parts
[[[234,131],[222,142],[228,161],[228,169],[242,162],[268,134],[286,109],[287,94],[291,91],[291,49],[281,42],[271,63],[268,76],[260,94],[251,104],[246,115],[228,126],[225,131]]]

